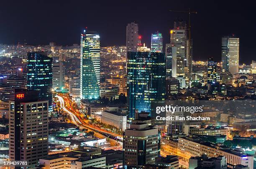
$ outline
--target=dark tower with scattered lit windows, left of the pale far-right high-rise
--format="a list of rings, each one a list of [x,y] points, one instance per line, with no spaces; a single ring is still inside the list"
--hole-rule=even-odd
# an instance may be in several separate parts
[[[208,59],[207,63],[207,83],[210,84],[212,82],[217,81],[217,62],[213,60],[213,58]]]

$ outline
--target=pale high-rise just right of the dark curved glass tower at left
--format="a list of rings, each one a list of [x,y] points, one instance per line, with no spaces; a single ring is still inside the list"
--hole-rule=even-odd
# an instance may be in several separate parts
[[[65,68],[62,61],[55,61],[53,64],[53,84],[54,90],[61,89],[65,86]]]

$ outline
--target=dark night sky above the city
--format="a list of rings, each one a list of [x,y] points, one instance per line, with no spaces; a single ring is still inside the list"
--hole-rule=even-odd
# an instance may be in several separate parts
[[[236,0],[3,0],[0,3],[0,43],[60,45],[80,43],[84,27],[101,34],[101,45],[125,45],[127,23],[139,24],[142,42],[150,46],[151,33],[159,30],[164,45],[169,30],[184,13],[169,10],[195,10],[192,15],[194,60],[214,57],[220,60],[221,37],[240,38],[240,63],[256,59],[256,15],[253,1]]]

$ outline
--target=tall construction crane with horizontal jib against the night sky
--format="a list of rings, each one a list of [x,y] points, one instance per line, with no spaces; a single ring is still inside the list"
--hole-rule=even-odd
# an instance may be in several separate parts
[[[189,58],[190,58],[190,62],[189,64],[192,64],[192,56],[191,56],[191,21],[190,21],[190,15],[191,13],[195,13],[197,14],[196,11],[191,11],[190,8],[188,11],[182,11],[182,10],[169,10],[169,12],[174,12],[174,13],[187,13],[188,14],[188,19],[189,19],[189,24],[188,24],[188,34],[189,34],[189,43],[188,43],[188,53],[189,53]],[[189,62],[189,61],[188,61]],[[190,78],[190,75],[192,73],[192,65],[189,66],[191,68],[189,68],[189,78]],[[191,70],[190,70],[191,69]]]

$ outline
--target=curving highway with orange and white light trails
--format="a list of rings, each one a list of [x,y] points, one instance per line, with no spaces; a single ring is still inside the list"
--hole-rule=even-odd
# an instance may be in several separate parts
[[[60,108],[62,108],[63,111],[65,111],[67,114],[69,114],[71,121],[73,124],[76,126],[82,128],[82,129],[90,129],[92,131],[95,131],[95,134],[100,135],[100,137],[108,138],[108,136],[105,135],[110,135],[114,137],[121,137],[123,136],[112,133],[110,131],[106,131],[104,129],[100,129],[97,126],[93,126],[92,124],[89,124],[89,121],[85,119],[84,114],[80,113],[77,109],[74,109],[72,103],[70,104],[70,100],[66,96],[56,96],[60,102]],[[113,146],[116,146],[118,144],[118,141],[115,139],[108,138],[110,140],[110,143],[112,143]]]

